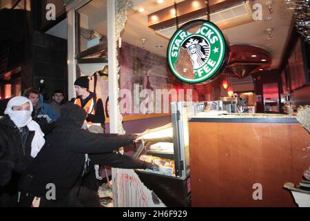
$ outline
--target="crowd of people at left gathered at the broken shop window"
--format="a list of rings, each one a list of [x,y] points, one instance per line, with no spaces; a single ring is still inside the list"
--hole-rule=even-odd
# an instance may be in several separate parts
[[[95,165],[158,170],[117,152],[137,134],[91,133],[105,124],[103,102],[87,77],[74,87],[67,103],[55,90],[46,104],[35,88],[8,101],[0,118],[0,206],[101,206]]]

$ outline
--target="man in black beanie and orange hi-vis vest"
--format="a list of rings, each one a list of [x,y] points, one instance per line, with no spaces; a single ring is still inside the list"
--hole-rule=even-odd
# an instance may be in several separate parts
[[[85,125],[87,128],[92,125],[100,125],[104,128],[105,113],[103,102],[96,97],[95,93],[89,90],[89,79],[87,76],[79,77],[74,81],[76,97],[72,98],[74,104],[81,106],[87,113]]]

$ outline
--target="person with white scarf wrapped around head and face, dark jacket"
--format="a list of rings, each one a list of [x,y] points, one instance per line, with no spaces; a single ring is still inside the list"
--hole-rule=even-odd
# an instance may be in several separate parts
[[[45,143],[32,109],[26,97],[13,97],[0,119],[0,206],[17,203],[21,174]]]

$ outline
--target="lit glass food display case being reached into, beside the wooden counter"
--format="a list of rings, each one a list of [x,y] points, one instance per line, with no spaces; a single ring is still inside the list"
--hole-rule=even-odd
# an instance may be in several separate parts
[[[141,181],[167,206],[190,205],[188,118],[193,105],[172,102],[172,123],[145,131],[134,157],[158,164],[159,171],[136,170]]]

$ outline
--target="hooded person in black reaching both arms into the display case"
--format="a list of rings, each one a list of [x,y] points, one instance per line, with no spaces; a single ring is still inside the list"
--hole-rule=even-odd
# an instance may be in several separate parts
[[[111,153],[121,146],[132,144],[137,135],[90,133],[81,128],[86,117],[83,108],[72,103],[65,104],[61,109],[56,128],[32,164],[28,166],[21,195],[23,206],[27,204],[29,206],[34,196],[41,198],[40,206],[75,206],[66,202],[72,200],[70,196],[72,189],[74,186],[79,186],[81,176],[90,164],[85,153],[90,155],[101,153],[94,155],[94,159],[100,161],[99,157],[112,166],[141,169],[156,167],[154,164]],[[92,160],[92,157],[90,159]],[[46,193],[50,191],[47,188],[48,184],[56,187],[55,197],[52,200],[45,198]]]

